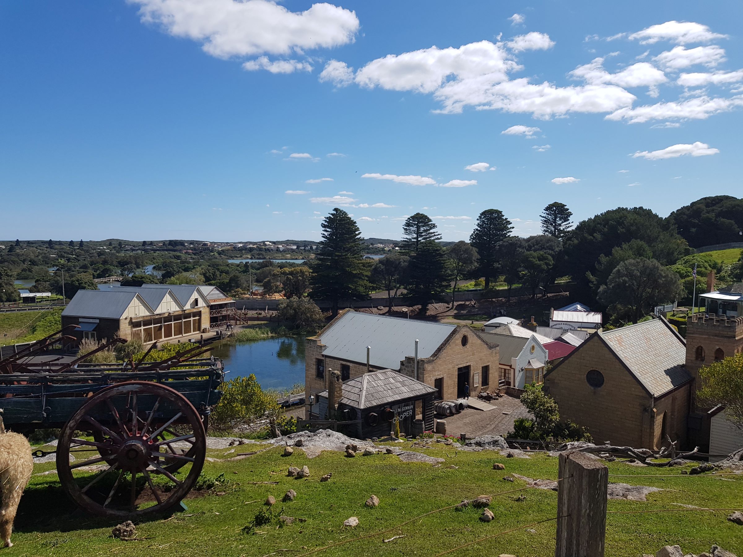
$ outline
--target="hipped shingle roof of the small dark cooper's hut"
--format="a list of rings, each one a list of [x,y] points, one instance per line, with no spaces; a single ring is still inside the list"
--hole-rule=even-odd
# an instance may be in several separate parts
[[[343,382],[340,403],[354,408],[371,408],[435,392],[435,388],[424,382],[391,369],[383,369]],[[328,391],[322,391],[318,396],[328,398]]]

